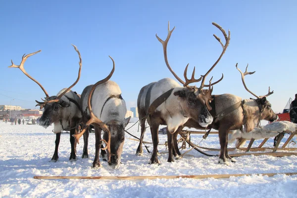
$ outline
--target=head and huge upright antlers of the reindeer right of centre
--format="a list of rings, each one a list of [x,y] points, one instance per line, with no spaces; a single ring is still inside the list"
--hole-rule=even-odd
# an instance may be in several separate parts
[[[216,35],[213,35],[215,37],[215,39],[221,44],[223,51],[220,54],[219,58],[216,60],[216,62],[212,65],[212,67],[206,72],[205,75],[201,75],[201,77],[199,79],[195,79],[194,75],[195,75],[195,67],[192,73],[192,77],[191,79],[187,78],[187,70],[188,70],[188,66],[189,64],[186,66],[186,69],[184,71],[184,77],[186,82],[184,82],[182,79],[180,79],[175,73],[174,71],[171,69],[169,62],[167,60],[167,44],[168,41],[171,37],[171,34],[174,30],[174,28],[172,30],[169,29],[169,22],[168,22],[168,35],[165,41],[161,40],[157,35],[157,39],[158,41],[162,44],[163,46],[163,52],[164,52],[164,59],[165,59],[165,63],[168,67],[168,69],[170,70],[170,72],[174,75],[174,77],[183,84],[183,86],[185,87],[185,89],[183,89],[182,91],[178,91],[176,93],[174,93],[175,96],[178,96],[180,99],[180,103],[181,106],[184,110],[184,115],[186,116],[186,114],[188,114],[189,116],[191,116],[191,118],[193,118],[194,120],[198,121],[198,123],[201,126],[207,126],[208,124],[210,124],[212,122],[212,116],[210,115],[209,111],[211,110],[211,106],[209,105],[209,102],[211,102],[211,100],[213,100],[213,98],[211,98],[211,93],[212,93],[212,86],[217,84],[218,82],[220,82],[223,79],[223,74],[221,79],[219,79],[218,81],[216,81],[215,83],[211,83],[212,78],[209,81],[208,85],[204,85],[206,76],[210,73],[210,71],[217,65],[217,63],[220,61],[221,57],[223,56],[223,54],[225,53],[227,47],[229,46],[229,42],[230,42],[230,31],[228,32],[228,36],[225,32],[225,30],[219,26],[216,23],[212,23],[215,27],[217,27],[224,35],[226,43],[225,45],[223,45],[223,43],[221,42],[221,39],[218,38]],[[202,81],[201,81],[202,80]],[[197,87],[193,87],[193,86],[189,86],[190,83],[197,83],[201,81],[201,85],[199,88]],[[208,90],[203,90],[203,87],[208,87]]]

